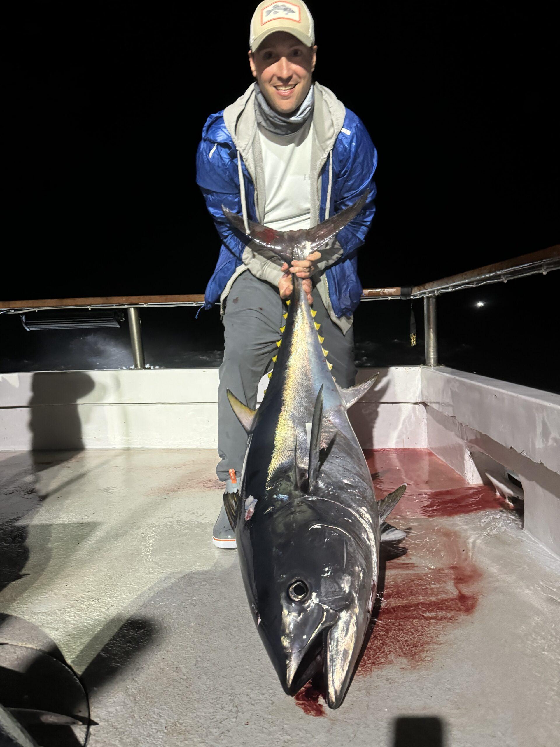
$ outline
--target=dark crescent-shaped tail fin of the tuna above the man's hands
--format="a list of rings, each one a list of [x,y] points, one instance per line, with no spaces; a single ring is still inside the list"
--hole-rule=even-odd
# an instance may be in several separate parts
[[[370,190],[366,190],[352,205],[327,218],[327,220],[323,220],[323,223],[318,226],[299,231],[275,231],[275,229],[267,228],[267,226],[261,226],[261,223],[254,223],[249,220],[247,221],[249,233],[246,233],[243,217],[232,213],[224,205],[222,205],[222,211],[237,231],[290,264],[294,258],[299,258],[299,256],[303,258],[304,252],[307,256],[323,247],[323,244],[326,244],[327,241],[335,238],[337,233],[361,212],[369,193]]]

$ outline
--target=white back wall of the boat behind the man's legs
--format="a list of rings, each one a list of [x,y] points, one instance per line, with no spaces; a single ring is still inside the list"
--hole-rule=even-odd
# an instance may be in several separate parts
[[[0,450],[216,447],[217,394],[217,368],[2,374]],[[420,369],[380,371],[352,418],[364,448],[426,446]]]

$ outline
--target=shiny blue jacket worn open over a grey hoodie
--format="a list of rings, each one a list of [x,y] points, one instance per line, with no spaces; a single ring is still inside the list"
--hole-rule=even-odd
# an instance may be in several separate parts
[[[323,105],[317,105],[318,89],[322,94],[319,101],[323,102]],[[249,91],[250,89],[244,97],[238,99],[237,106],[240,105],[239,102],[247,99]],[[332,112],[337,111],[332,101],[329,100],[329,96],[337,103],[338,111],[340,112],[340,108],[342,111],[338,117],[336,114],[332,115],[332,120],[335,121],[327,123],[331,129],[330,140],[328,136],[325,137],[325,142],[322,143],[324,148],[321,161],[323,162],[316,164],[321,182],[319,222],[325,220],[329,194],[328,214],[332,215],[352,205],[352,202],[355,202],[366,189],[370,190],[364,209],[337,235],[337,241],[343,249],[342,256],[326,269],[332,311],[337,317],[349,317],[358,306],[362,292],[358,279],[356,255],[358,247],[364,244],[364,238],[375,213],[376,185],[373,182],[373,173],[377,165],[377,152],[359,117],[349,109],[343,108],[343,105],[326,87],[320,87],[316,83],[315,91],[314,124],[317,117],[331,117]],[[249,239],[240,238],[231,229],[222,212],[222,205],[237,214],[242,212],[238,176],[240,154],[237,146],[239,143],[237,145],[234,143],[234,137],[225,125],[224,111],[211,114],[206,120],[196,154],[196,182],[202,190],[208,211],[214,219],[223,242],[216,268],[206,287],[206,309],[210,309],[220,299],[228,280],[236,268],[242,264],[241,256],[246,244],[249,243]],[[230,115],[228,121],[231,119]],[[329,127],[326,129],[328,130]],[[241,161],[247,217],[258,222],[255,208],[255,185],[243,158]]]

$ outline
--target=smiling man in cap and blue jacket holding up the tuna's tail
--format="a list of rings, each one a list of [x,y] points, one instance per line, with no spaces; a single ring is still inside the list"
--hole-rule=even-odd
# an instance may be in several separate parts
[[[202,130],[196,181],[220,238],[205,308],[220,299],[225,350],[218,393],[217,476],[232,492],[228,471],[243,468],[246,433],[226,395],[255,408],[258,382],[272,368],[284,300],[293,273],[304,279],[317,311],[332,374],[355,381],[352,314],[361,297],[356,252],[375,207],[376,149],[361,120],[326,87],[312,81],[314,23],[302,0],[265,0],[253,13],[249,65],[256,79],[236,102],[211,114]],[[307,229],[370,193],[361,213],[335,241],[290,267],[231,228],[222,205],[281,231]],[[222,508],[214,544],[235,547]]]

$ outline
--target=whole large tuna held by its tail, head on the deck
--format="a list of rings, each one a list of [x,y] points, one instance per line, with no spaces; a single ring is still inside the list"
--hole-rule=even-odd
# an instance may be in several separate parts
[[[335,238],[354,205],[308,230],[278,232],[225,216],[261,250],[290,264]],[[375,498],[347,409],[375,377],[341,388],[302,281],[284,314],[278,354],[258,410],[228,391],[249,434],[240,492],[224,496],[253,619],[284,691],[295,695],[318,672],[337,708],[352,679],[373,609],[379,542],[404,537],[385,518],[405,486]],[[237,394],[237,396],[236,396]]]

